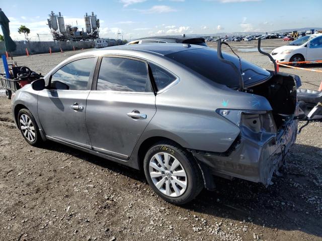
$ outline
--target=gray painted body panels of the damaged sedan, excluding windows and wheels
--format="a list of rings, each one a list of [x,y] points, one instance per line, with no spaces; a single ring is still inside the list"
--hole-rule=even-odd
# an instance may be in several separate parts
[[[138,159],[141,144],[149,138],[167,138],[191,151],[196,160],[215,175],[268,185],[295,142],[297,121],[291,118],[278,139],[276,131],[246,132],[243,125],[220,115],[216,110],[264,113],[274,110],[263,96],[217,84],[165,56],[199,48],[205,47],[140,44],[75,55],[48,73],[44,77],[46,83],[50,75],[68,61],[107,55],[154,63],[177,76],[177,80],[157,93],[96,91],[91,86],[92,79],[95,86],[98,65],[85,91],[34,91],[26,85],[16,92],[13,113],[24,105],[33,113],[44,139],[47,137],[136,169],[141,168]],[[70,108],[74,103],[84,108]],[[133,119],[128,116],[132,111],[139,111],[146,118]],[[258,136],[263,138],[259,141]]]

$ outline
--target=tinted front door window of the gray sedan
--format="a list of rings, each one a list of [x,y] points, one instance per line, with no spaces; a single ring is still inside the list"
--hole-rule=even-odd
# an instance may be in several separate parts
[[[66,64],[51,76],[50,87],[53,89],[86,90],[94,65],[95,58],[79,59]]]

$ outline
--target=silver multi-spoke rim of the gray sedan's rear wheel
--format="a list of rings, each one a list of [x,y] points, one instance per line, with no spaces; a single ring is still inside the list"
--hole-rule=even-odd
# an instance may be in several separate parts
[[[149,174],[155,187],[170,197],[179,197],[187,189],[187,174],[173,155],[160,152],[149,162]]]

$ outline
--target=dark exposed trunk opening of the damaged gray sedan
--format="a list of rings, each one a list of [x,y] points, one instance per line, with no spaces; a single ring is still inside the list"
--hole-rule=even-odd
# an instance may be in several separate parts
[[[294,117],[296,108],[296,84],[287,74],[273,75],[265,83],[251,87],[254,94],[264,96],[272,106],[274,121],[278,130],[290,118]]]

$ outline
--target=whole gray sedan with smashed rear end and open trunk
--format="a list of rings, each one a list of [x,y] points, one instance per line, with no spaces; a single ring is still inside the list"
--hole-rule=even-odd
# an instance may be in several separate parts
[[[223,57],[239,66],[231,55]],[[217,51],[140,44],[74,55],[18,90],[12,112],[33,146],[51,140],[143,170],[183,204],[213,176],[271,184],[297,134],[296,80]]]

